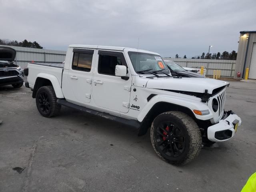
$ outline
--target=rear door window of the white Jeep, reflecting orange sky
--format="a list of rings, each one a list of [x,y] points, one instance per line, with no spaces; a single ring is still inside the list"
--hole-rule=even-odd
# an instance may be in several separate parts
[[[93,54],[74,52],[72,69],[90,72],[92,67],[92,56]]]

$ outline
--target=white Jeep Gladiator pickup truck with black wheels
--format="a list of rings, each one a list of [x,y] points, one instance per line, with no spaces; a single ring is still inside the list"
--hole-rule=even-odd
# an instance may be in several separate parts
[[[226,141],[241,119],[224,111],[228,82],[171,76],[162,57],[133,48],[70,45],[64,64],[24,70],[44,117],[68,106],[138,128],[150,128],[154,150],[171,164],[198,156],[202,143]]]

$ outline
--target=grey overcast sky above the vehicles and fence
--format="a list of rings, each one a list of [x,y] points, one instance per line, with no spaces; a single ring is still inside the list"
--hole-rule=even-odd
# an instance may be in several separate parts
[[[189,58],[238,49],[239,32],[256,30],[256,0],[0,0],[0,38],[125,46]]]

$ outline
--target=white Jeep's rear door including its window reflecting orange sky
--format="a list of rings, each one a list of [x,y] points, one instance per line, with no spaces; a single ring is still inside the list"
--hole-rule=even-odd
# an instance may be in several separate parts
[[[92,87],[92,66],[95,60],[93,49],[73,49],[73,60],[68,72],[68,84],[73,92],[71,101],[90,103]]]

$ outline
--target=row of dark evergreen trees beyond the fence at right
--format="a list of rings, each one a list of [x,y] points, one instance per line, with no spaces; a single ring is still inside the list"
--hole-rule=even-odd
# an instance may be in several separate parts
[[[220,54],[220,52],[218,53],[213,53],[213,54],[208,54],[205,52],[202,53],[201,56],[194,56],[192,57],[192,59],[224,59],[224,60],[236,60],[236,56],[237,56],[237,52],[236,51],[232,51],[232,52],[227,52],[227,51],[224,51],[222,52],[222,54]],[[171,58],[171,57],[170,57]],[[178,54],[175,55],[175,58],[181,58]],[[184,59],[187,58],[186,55],[184,55],[183,57]]]

